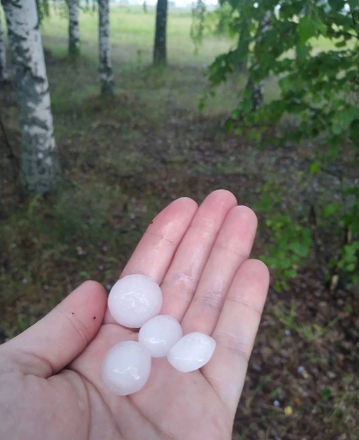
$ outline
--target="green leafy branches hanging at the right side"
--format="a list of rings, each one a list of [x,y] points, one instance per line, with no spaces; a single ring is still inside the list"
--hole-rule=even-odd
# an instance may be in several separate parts
[[[227,28],[239,34],[243,26],[245,39],[227,53],[215,58],[208,68],[213,89],[225,82],[241,62],[247,63],[248,78],[262,84],[275,78],[279,96],[253,112],[251,89],[242,91],[238,107],[227,121],[229,129],[264,142],[270,140],[301,142],[315,139],[319,153],[306,171],[310,176],[341,155],[358,161],[359,147],[359,4],[357,0],[222,0],[228,17]],[[228,7],[232,13],[228,15]],[[270,26],[263,27],[268,11]],[[202,13],[203,15],[203,13]],[[206,28],[199,23],[197,41]],[[258,39],[258,34],[260,38]],[[206,97],[201,101],[205,105]],[[283,119],[291,117],[294,127],[275,136],[263,136]],[[353,283],[359,282],[359,186],[341,172],[342,202],[327,204],[320,216],[334,216],[346,232],[341,249],[327,261],[333,273],[346,273]],[[263,188],[263,198],[272,197]],[[268,219],[267,226],[277,238],[267,262],[289,279],[296,275],[301,259],[312,245],[308,227],[294,228],[289,216],[280,214]],[[330,272],[330,271],[329,271]]]

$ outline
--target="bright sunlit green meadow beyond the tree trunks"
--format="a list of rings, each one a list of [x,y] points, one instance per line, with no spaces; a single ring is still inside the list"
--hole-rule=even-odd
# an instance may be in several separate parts
[[[111,9],[111,43],[115,67],[123,67],[124,63],[138,63],[139,52],[141,62],[151,63],[153,53],[154,29],[156,15],[153,8],[144,13],[141,7],[114,6]],[[82,51],[91,52],[97,59],[96,45],[98,17],[96,13],[81,13],[80,34]],[[227,50],[231,45],[229,39],[213,37],[206,39],[199,54],[194,53],[194,44],[189,37],[191,27],[191,11],[178,11],[170,8],[168,13],[168,60],[172,65],[191,65],[205,67],[216,56]],[[42,32],[45,46],[55,46],[58,53],[67,51],[68,23],[61,14],[53,13],[44,20]],[[59,45],[61,43],[61,47]]]

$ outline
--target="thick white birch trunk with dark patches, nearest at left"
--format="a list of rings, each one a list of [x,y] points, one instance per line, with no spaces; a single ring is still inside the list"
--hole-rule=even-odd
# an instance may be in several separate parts
[[[35,0],[1,0],[13,56],[21,128],[23,189],[49,193],[61,182]]]

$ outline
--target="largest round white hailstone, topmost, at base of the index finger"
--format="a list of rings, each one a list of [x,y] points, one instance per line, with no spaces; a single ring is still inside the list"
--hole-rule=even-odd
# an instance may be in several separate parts
[[[158,315],[161,306],[160,286],[144,275],[121,278],[108,295],[111,315],[125,327],[141,327],[149,318]]]

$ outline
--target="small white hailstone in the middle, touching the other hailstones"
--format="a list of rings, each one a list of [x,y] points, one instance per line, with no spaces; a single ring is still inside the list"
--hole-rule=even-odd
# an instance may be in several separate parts
[[[155,316],[139,330],[139,342],[149,349],[153,358],[167,356],[181,337],[181,325],[170,315]]]

